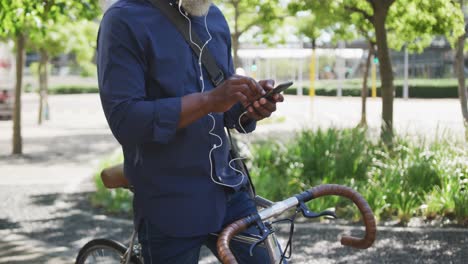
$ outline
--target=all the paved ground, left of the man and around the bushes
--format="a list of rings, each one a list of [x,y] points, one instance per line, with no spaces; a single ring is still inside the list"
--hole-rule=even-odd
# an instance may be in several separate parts
[[[101,215],[87,198],[100,159],[118,148],[98,96],[52,96],[52,120],[41,127],[35,123],[36,96],[25,95],[23,105],[24,156],[9,155],[12,124],[0,121],[0,263],[71,263],[92,237],[124,240],[131,222]],[[395,105],[397,128],[431,134],[441,127],[462,135],[456,100],[397,100]],[[379,109],[378,101],[369,102],[371,127],[379,126]],[[273,120],[283,121],[261,125],[259,132],[290,131],[306,124],[351,127],[359,120],[359,100],[318,97],[312,105],[308,98],[288,97]],[[300,225],[296,245],[297,252],[304,253],[296,254],[293,263],[367,258],[369,263],[463,263],[468,258],[465,231],[388,229],[369,251],[341,248],[336,237],[343,231],[349,228]],[[307,260],[310,254],[315,257],[312,262]],[[203,255],[202,263],[213,262]]]

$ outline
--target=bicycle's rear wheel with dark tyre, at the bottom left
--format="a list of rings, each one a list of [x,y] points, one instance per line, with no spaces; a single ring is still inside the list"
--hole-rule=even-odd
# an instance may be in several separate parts
[[[118,264],[123,263],[123,255],[127,248],[121,243],[109,239],[94,239],[86,243],[76,257],[76,264]],[[129,264],[142,264],[132,256]]]

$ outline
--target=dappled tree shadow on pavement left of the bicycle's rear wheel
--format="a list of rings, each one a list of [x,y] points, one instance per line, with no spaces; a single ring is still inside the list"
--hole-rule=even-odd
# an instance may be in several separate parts
[[[21,226],[0,219],[0,229],[16,228],[0,239],[0,263],[70,263],[79,249],[93,238],[127,241],[131,235],[129,219],[116,221],[92,208],[90,193],[31,195],[30,203],[49,211],[37,219],[21,221]],[[57,200],[60,205],[57,206]],[[53,208],[51,208],[53,207]],[[8,231],[8,230],[3,230]],[[38,245],[30,247],[36,241]],[[15,257],[16,256],[16,257]]]

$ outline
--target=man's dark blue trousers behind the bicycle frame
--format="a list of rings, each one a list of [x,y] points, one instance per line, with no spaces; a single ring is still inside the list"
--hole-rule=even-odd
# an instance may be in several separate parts
[[[225,225],[237,219],[256,212],[254,201],[247,192],[240,191],[230,194],[228,197],[227,215],[224,219]],[[259,234],[255,226],[249,228],[244,234]],[[193,264],[198,263],[200,248],[207,246],[213,254],[217,256],[216,241],[217,236],[207,234],[199,237],[170,237],[157,230],[148,221],[144,220],[140,224],[138,239],[143,247],[143,257],[145,264]],[[259,246],[255,249],[253,256],[250,256],[250,244],[231,241],[231,250],[239,263],[262,264],[269,263],[267,250]]]

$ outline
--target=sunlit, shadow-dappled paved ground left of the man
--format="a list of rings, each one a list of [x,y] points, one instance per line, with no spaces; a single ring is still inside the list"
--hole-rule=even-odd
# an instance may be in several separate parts
[[[21,157],[9,155],[12,122],[0,121],[0,263],[71,263],[81,238],[129,227],[93,219],[87,205],[99,160],[118,147],[98,96],[52,96],[50,105],[52,120],[39,127],[37,97],[24,96]]]

